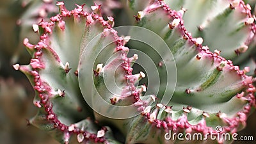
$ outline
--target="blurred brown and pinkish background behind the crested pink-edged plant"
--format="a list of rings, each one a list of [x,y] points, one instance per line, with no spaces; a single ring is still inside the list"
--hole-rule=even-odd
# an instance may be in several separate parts
[[[108,5],[103,10],[106,15],[118,13],[121,4],[115,0],[97,0],[97,4]],[[106,3],[104,3],[106,2]],[[253,1],[254,2],[254,1]],[[14,63],[26,65],[30,56],[22,44],[24,38],[36,44],[37,33],[33,32],[32,24],[40,20],[47,20],[58,13],[53,0],[0,0],[0,144],[57,144],[44,131],[39,131],[27,124],[27,119],[36,114],[33,105],[35,92],[24,74],[13,69]],[[67,8],[74,8],[74,3],[88,6],[92,1],[65,1]],[[120,16],[121,15],[121,16]],[[120,20],[118,25],[129,24]],[[256,139],[256,113],[248,118],[246,129],[239,132],[239,136],[253,136]],[[255,143],[255,141],[236,141],[236,144]]]

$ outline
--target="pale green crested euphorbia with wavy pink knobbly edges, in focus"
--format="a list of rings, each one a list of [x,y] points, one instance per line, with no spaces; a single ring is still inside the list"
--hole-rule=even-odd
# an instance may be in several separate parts
[[[243,129],[255,109],[255,78],[250,67],[241,69],[232,61],[240,65],[255,51],[250,6],[239,0],[125,4],[139,26],[128,32],[131,42],[129,36],[118,36],[113,17],[102,18],[97,4],[92,11],[84,5],[69,11],[58,2],[58,15],[33,25],[40,41],[34,45],[24,39],[31,61],[13,65],[26,74],[36,92],[34,104],[39,110],[29,124],[48,131],[60,143],[188,143],[177,135],[168,140],[166,134],[207,136]],[[169,52],[159,57],[147,45],[132,42],[132,38],[150,39],[138,32],[140,28],[162,38],[171,57]],[[152,45],[154,40],[150,39]],[[153,56],[159,83],[150,83],[150,75],[135,67],[140,54],[128,58],[125,46]],[[163,45],[154,49],[162,51]],[[138,84],[146,78],[147,83]],[[148,91],[152,93],[144,95]],[[124,113],[136,115],[120,116]],[[111,128],[118,129],[125,141],[117,141]],[[207,138],[207,143],[232,142]]]

